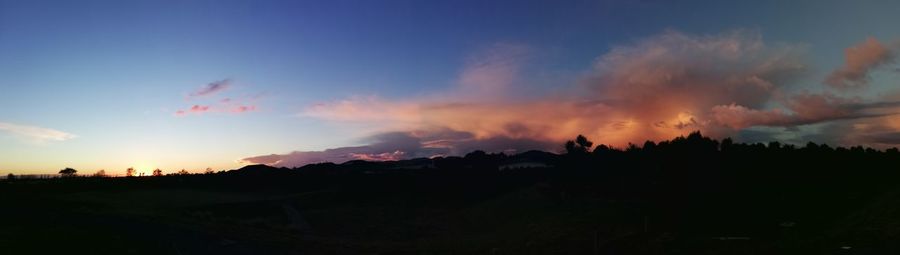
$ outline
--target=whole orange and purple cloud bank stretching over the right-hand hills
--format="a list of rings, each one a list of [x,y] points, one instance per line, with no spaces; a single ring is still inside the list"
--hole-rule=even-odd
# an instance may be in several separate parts
[[[376,134],[406,134],[416,142],[396,146],[393,139],[381,139],[368,146],[250,157],[244,162],[298,166],[364,158],[354,155],[396,159],[459,155],[472,149],[558,150],[578,134],[626,146],[695,130],[725,137],[750,127],[795,129],[871,121],[896,112],[896,103],[889,100],[870,102],[798,88],[798,81],[809,75],[806,47],[766,44],[754,32],[666,31],[614,46],[576,84],[547,84],[560,89],[543,95],[520,93],[525,85],[519,75],[528,51],[509,44],[493,47],[467,62],[456,87],[436,95],[402,100],[353,96],[320,102],[299,114],[365,123],[374,126]],[[829,80],[867,81],[865,73],[889,60],[879,47],[870,39],[848,49],[847,64],[832,74],[839,78]],[[791,92],[798,89],[803,92]],[[893,141],[891,135],[877,138]]]

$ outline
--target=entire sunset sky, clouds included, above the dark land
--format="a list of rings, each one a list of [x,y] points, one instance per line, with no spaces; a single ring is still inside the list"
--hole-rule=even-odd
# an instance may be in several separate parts
[[[897,1],[0,0],[0,174],[900,144]]]

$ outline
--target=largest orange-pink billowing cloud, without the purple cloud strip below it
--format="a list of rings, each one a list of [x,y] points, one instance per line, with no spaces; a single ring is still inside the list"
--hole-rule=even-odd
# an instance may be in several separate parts
[[[514,52],[515,50],[495,50]],[[767,46],[751,32],[691,36],[675,31],[613,47],[599,57],[579,84],[556,94],[523,96],[521,85],[472,98],[478,88],[465,83],[449,96],[387,100],[351,97],[316,104],[301,115],[338,122],[377,123],[384,129],[448,128],[478,139],[528,138],[560,142],[579,133],[603,143],[624,145],[669,139],[696,129],[714,129],[715,106],[762,107],[781,87],[805,73],[804,47]],[[523,57],[489,56],[469,70],[508,70]],[[503,59],[503,61],[494,61]],[[490,66],[500,63],[501,67]],[[508,71],[500,72],[504,77]],[[486,75],[489,76],[489,75]],[[476,79],[490,81],[490,79]],[[515,79],[503,78],[500,81]],[[724,131],[723,131],[724,132]]]

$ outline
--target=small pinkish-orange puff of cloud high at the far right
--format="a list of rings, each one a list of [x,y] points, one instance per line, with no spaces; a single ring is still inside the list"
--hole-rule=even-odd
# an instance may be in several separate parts
[[[844,65],[831,72],[825,83],[835,88],[859,88],[869,83],[869,73],[894,60],[895,53],[875,38],[847,48]]]

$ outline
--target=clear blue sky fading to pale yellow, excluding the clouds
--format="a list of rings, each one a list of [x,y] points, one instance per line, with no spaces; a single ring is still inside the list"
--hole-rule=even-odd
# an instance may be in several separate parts
[[[822,81],[845,63],[846,48],[872,37],[893,50],[898,10],[895,1],[0,0],[0,123],[15,125],[0,131],[0,173],[229,169],[256,155],[372,145],[379,133],[433,130],[433,123],[398,127],[308,113],[359,98],[416,109],[429,108],[429,100],[450,103],[466,93],[456,89],[461,77],[478,63],[495,64],[484,55],[507,54],[497,48],[508,45],[526,56],[501,61],[525,94],[509,101],[566,93],[560,91],[584,83],[611,50],[666,31],[697,38],[746,31],[767,47],[802,48],[805,74],[784,91],[830,90]],[[832,93],[887,100],[878,96],[896,87],[896,74],[868,75],[864,91]],[[189,96],[226,79],[225,90]],[[213,110],[176,114],[193,105]],[[236,105],[254,108],[235,113]],[[826,122],[804,121],[807,133],[768,137],[823,137],[816,130]],[[771,131],[766,125],[726,135]],[[437,128],[448,127],[471,133],[469,140],[499,137]],[[35,137],[44,129],[71,136]],[[394,151],[366,151],[385,152]]]

